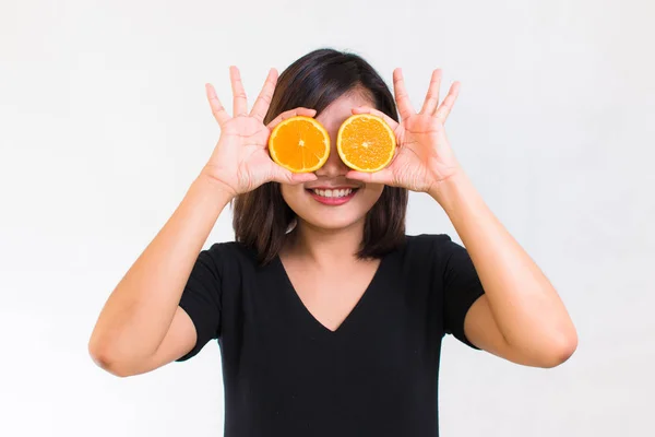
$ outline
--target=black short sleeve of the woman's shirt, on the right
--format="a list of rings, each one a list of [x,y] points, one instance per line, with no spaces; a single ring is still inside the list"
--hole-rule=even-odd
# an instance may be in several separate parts
[[[485,291],[468,251],[450,237],[437,250],[443,262],[443,327],[464,344],[479,350],[466,338],[464,319],[471,306]]]

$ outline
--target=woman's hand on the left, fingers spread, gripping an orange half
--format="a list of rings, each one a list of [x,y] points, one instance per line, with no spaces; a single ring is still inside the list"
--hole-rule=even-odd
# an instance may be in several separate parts
[[[201,175],[223,185],[231,196],[251,191],[269,181],[302,184],[315,180],[313,173],[294,174],[277,165],[269,155],[269,137],[275,126],[297,115],[313,117],[315,110],[291,109],[264,126],[263,120],[277,83],[277,71],[271,69],[269,72],[250,114],[239,70],[230,67],[229,75],[234,95],[233,117],[223,107],[214,87],[209,83],[205,85],[212,114],[221,126],[221,137]]]

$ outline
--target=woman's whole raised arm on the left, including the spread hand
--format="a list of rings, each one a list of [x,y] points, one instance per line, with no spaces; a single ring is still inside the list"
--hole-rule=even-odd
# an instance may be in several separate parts
[[[264,126],[277,72],[271,70],[250,113],[234,67],[230,79],[234,117],[207,84],[207,99],[221,126],[218,143],[171,217],[110,294],[91,335],[91,356],[117,376],[153,370],[195,345],[195,327],[179,307],[180,297],[218,215],[235,196],[272,180],[300,184],[315,178],[279,167],[266,149],[279,121],[295,115],[311,117],[315,111],[293,109]]]

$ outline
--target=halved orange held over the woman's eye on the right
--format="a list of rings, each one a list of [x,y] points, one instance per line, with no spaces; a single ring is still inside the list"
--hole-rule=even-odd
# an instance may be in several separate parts
[[[378,172],[395,153],[396,139],[386,121],[370,114],[356,114],[343,122],[336,137],[342,161],[357,172]]]

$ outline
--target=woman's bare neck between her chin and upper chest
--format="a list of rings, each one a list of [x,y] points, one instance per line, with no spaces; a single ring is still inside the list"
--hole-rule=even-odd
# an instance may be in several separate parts
[[[288,247],[291,256],[309,257],[318,264],[352,262],[364,236],[364,221],[341,229],[322,229],[298,221]]]

